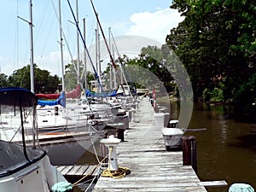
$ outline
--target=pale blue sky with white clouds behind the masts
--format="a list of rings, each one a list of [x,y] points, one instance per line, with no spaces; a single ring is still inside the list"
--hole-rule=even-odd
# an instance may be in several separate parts
[[[74,15],[77,15],[76,1],[69,0],[69,2]],[[61,76],[58,3],[58,0],[32,0],[32,36],[34,63],[40,69],[48,70],[51,75]],[[166,35],[183,20],[177,10],[170,9],[172,0],[93,0],[93,3],[106,38],[109,37],[110,27],[113,37],[138,36],[164,44]],[[79,28],[83,33],[84,19],[85,42],[89,49],[95,45],[96,16],[90,0],[78,0],[78,7]],[[15,70],[30,63],[29,10],[29,0],[0,1],[0,73],[9,76]],[[63,61],[67,64],[78,55],[77,28],[74,25],[68,0],[61,0],[61,27],[65,38]],[[129,44],[129,41],[125,42]],[[81,38],[79,38],[79,50],[82,57],[84,44]]]

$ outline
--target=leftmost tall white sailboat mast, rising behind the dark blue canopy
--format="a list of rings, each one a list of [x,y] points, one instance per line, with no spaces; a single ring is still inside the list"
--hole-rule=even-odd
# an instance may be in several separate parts
[[[30,0],[30,85],[32,93],[35,92],[34,88],[34,50],[33,50],[33,24],[32,24],[32,0]]]

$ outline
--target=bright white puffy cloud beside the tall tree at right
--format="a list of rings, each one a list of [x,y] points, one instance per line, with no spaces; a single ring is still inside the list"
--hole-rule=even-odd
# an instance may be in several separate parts
[[[130,26],[127,35],[139,35],[153,38],[164,44],[166,35],[173,27],[183,21],[176,9],[162,9],[154,13],[142,12],[131,15],[130,20],[134,23]]]

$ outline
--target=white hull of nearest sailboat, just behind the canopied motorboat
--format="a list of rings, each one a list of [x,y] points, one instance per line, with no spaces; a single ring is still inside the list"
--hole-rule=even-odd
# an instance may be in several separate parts
[[[9,141],[15,134],[14,130],[0,126],[0,139]],[[52,165],[73,165],[96,142],[101,131],[83,131],[83,128],[70,131],[45,131],[38,134],[39,145],[49,155]],[[32,135],[26,135],[27,140],[32,140]],[[20,132],[12,140],[20,143]]]

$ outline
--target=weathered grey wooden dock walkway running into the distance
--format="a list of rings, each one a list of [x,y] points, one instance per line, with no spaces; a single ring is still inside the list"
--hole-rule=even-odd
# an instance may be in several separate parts
[[[100,177],[93,191],[207,191],[192,166],[183,166],[181,151],[166,151],[154,108],[146,98],[135,122],[117,147],[119,166],[128,167],[131,173],[120,179]]]

